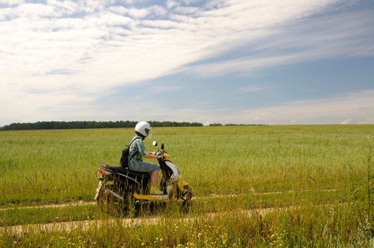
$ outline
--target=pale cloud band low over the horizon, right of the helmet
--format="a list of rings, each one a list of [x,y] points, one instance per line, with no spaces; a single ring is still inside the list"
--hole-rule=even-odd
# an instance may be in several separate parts
[[[358,91],[331,98],[292,101],[274,106],[248,108],[238,111],[232,108],[215,109],[202,105],[197,108],[184,108],[173,111],[163,106],[169,113],[165,119],[180,121],[209,120],[209,123],[246,123],[246,124],[373,124],[374,90]],[[166,111],[167,110],[167,111]],[[351,118],[346,119],[346,116]],[[353,122],[352,120],[357,120]]]

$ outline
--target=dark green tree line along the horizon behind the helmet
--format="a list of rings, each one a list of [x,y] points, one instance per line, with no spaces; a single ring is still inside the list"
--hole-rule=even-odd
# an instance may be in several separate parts
[[[11,123],[0,130],[45,130],[45,129],[87,129],[87,128],[134,128],[137,121],[38,121],[36,123]],[[148,121],[153,127],[200,127],[202,123],[175,121]]]

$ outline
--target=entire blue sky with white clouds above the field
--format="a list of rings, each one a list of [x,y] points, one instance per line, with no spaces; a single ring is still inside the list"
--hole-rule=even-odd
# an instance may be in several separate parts
[[[374,124],[373,23],[373,0],[0,0],[0,126]]]

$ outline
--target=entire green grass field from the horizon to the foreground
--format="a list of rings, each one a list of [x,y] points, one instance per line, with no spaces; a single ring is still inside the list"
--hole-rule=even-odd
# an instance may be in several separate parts
[[[124,226],[75,203],[92,201],[98,164],[119,164],[132,135],[0,132],[0,247],[374,247],[374,125],[154,128],[145,146],[165,143],[195,199],[185,212],[145,205],[122,218],[159,221]],[[9,227],[73,220],[108,223]]]

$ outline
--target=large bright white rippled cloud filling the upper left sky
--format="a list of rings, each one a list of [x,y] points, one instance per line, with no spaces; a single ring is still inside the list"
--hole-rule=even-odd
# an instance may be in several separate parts
[[[0,44],[0,62],[6,64],[1,74],[11,83],[19,80],[17,76],[21,77],[26,87],[58,89],[60,84],[72,84],[102,91],[160,77],[184,64],[251,43],[273,32],[272,26],[300,18],[330,2],[218,1],[220,4],[216,6],[220,8],[203,6],[194,16],[168,10],[167,19],[147,18],[156,9],[163,9],[161,6],[135,9],[109,6],[102,1],[48,1],[48,4],[9,6],[1,9],[8,14],[0,15],[6,16],[0,23],[4,37]],[[178,4],[169,1],[167,6],[174,9]],[[279,11],[285,7],[290,12]],[[229,64],[246,68],[255,63],[261,67],[274,59],[249,60],[250,65],[247,59],[242,59]],[[214,66],[223,68],[227,63]],[[48,76],[48,72],[60,68],[79,73],[56,77],[54,84],[43,83],[50,81],[49,77],[33,76]],[[107,77],[109,74],[111,77]],[[35,81],[38,81],[36,85]]]

